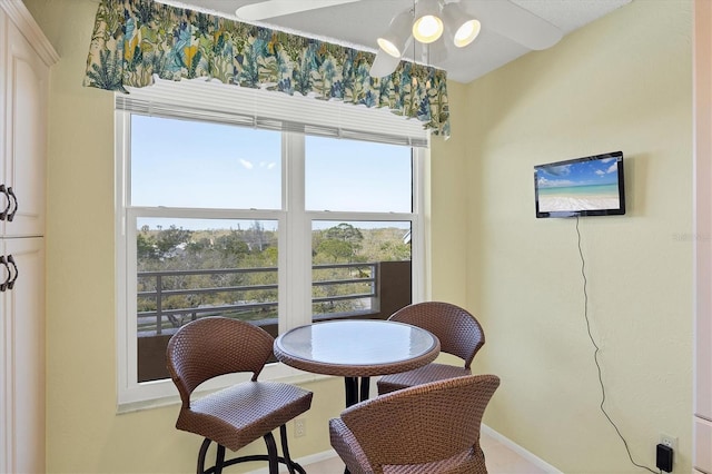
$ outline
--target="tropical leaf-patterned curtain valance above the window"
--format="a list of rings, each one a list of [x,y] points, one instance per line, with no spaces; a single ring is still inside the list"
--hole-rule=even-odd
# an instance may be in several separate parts
[[[368,75],[375,55],[154,0],[101,0],[85,86],[127,92],[154,75],[215,78],[367,107],[416,118],[449,136],[447,75],[400,61],[385,78]]]

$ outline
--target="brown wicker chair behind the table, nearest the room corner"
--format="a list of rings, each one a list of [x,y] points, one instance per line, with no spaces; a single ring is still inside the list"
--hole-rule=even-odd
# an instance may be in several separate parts
[[[429,330],[441,339],[441,352],[457,356],[465,364],[464,367],[458,367],[431,363],[414,371],[383,376],[377,382],[380,395],[428,382],[469,375],[472,361],[485,344],[485,334],[477,319],[449,303],[417,303],[398,309],[388,319]]]

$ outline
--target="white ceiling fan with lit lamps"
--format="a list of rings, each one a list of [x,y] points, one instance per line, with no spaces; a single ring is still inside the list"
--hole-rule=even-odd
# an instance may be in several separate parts
[[[236,14],[245,21],[268,21],[359,1],[363,0],[261,0],[238,8]],[[438,29],[434,36],[416,32],[415,27],[424,18],[426,27]],[[448,49],[469,45],[479,33],[481,24],[532,50],[550,48],[563,37],[558,28],[510,0],[414,0],[406,10],[393,17],[388,30],[377,38],[379,49],[370,75],[392,73],[412,41],[427,45],[428,55],[442,59]],[[468,36],[458,40],[461,27]],[[445,36],[448,36],[447,41],[439,39]]]

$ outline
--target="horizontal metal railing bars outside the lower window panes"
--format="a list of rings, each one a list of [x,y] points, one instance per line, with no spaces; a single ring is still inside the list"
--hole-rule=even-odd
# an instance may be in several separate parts
[[[356,310],[364,306],[367,306],[364,312],[369,310],[377,297],[377,263],[313,266],[313,305],[326,307],[328,312],[329,307],[348,307],[350,302]],[[146,309],[137,313],[138,334],[172,333],[190,320],[216,315],[275,324],[278,286],[255,280],[259,279],[257,275],[263,275],[267,282],[277,282],[277,267],[139,271],[137,297],[139,306]],[[344,276],[319,279],[317,275],[325,271]],[[198,287],[198,279],[214,285]],[[227,285],[215,286],[220,279]],[[241,282],[245,284],[239,284]]]

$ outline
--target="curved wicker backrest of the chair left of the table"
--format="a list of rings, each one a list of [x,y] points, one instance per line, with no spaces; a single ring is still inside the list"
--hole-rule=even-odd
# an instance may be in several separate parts
[[[264,329],[226,317],[206,317],[182,326],[168,342],[166,362],[184,407],[201,383],[225,374],[251,372],[253,381],[273,354]]]

